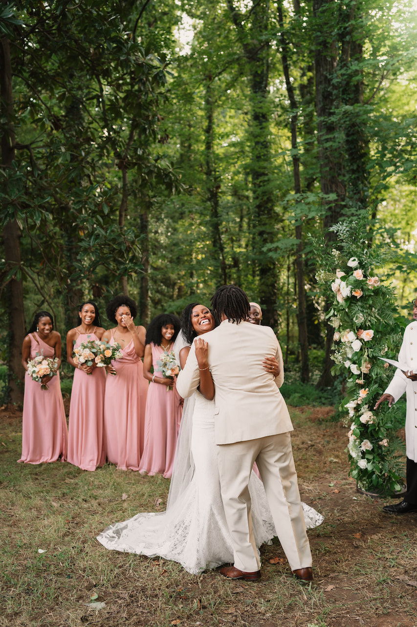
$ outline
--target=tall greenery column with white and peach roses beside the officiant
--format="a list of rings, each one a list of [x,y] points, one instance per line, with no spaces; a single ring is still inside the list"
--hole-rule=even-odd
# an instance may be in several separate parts
[[[395,406],[383,403],[375,411],[374,404],[394,374],[394,367],[379,357],[397,358],[403,327],[394,318],[392,288],[374,270],[383,264],[383,251],[376,245],[368,248],[366,224],[363,218],[332,228],[341,251],[324,253],[326,269],[317,279],[331,302],[326,317],[334,327],[332,374],[346,376],[341,411],[349,428],[350,474],[364,492],[393,495],[402,483],[403,444],[396,431],[404,417]]]

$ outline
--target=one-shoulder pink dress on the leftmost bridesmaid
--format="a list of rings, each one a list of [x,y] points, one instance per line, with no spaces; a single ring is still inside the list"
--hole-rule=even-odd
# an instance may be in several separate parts
[[[36,354],[54,357],[55,351],[36,334],[29,335],[31,348],[29,360]],[[22,456],[18,461],[40,464],[47,461],[65,460],[68,429],[66,426],[64,403],[59,372],[42,390],[41,384],[33,381],[26,372],[24,376]]]

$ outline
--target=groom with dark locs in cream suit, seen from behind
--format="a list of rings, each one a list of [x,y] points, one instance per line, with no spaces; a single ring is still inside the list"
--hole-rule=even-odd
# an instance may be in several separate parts
[[[256,461],[275,530],[292,572],[312,581],[312,559],[292,457],[291,419],[279,386],[284,382],[282,353],[270,327],[246,322],[249,300],[235,285],[212,298],[222,321],[204,335],[215,384],[215,442],[225,515],[234,547],[234,566],[220,572],[229,579],[260,579],[260,561],[252,531],[249,477]],[[265,372],[264,357],[275,357],[279,375]],[[192,346],[177,379],[183,398],[198,387],[200,374]]]

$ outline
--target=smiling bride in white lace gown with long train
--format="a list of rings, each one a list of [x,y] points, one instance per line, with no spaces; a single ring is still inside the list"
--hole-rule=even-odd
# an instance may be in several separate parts
[[[207,364],[207,342],[199,337],[214,329],[209,308],[191,303],[183,310],[182,333],[175,341],[175,355],[185,366],[190,345],[196,342],[200,391],[185,399],[167,510],[136,514],[130,520],[107,527],[97,539],[107,549],[160,556],[179,562],[198,574],[233,562],[233,549],[220,495],[217,447],[214,441],[214,384]],[[264,368],[277,369],[274,358]],[[207,397],[207,398],[205,398]],[[276,535],[262,481],[252,472],[250,483],[252,524],[260,547]],[[307,529],[323,517],[302,503]]]

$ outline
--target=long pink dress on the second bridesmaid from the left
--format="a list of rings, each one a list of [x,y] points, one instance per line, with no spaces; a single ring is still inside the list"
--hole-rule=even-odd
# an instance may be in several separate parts
[[[95,331],[95,330],[94,330]],[[74,348],[81,342],[98,340],[93,333],[80,333]],[[106,463],[104,448],[104,395],[106,371],[95,368],[91,374],[76,368],[71,391],[66,460],[81,470],[96,470]]]

